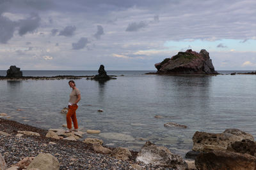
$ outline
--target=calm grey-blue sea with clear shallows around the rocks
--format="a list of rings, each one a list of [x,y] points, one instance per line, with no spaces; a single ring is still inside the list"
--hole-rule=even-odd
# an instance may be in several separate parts
[[[116,80],[75,80],[81,91],[77,121],[84,134],[110,147],[139,151],[146,141],[184,155],[196,131],[235,128],[256,136],[256,75],[218,71],[217,76],[166,76],[156,71],[107,71]],[[23,76],[92,76],[97,71],[23,71]],[[0,71],[6,76],[6,71]],[[42,129],[64,129],[72,89],[63,80],[0,80],[0,113]],[[98,110],[103,110],[99,112]],[[159,116],[159,118],[156,118]],[[172,122],[187,128],[165,127]]]

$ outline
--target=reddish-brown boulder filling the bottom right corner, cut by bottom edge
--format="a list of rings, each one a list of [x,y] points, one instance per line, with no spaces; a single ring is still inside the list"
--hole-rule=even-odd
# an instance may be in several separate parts
[[[200,153],[195,159],[197,169],[256,169],[256,157],[246,153],[212,151]]]

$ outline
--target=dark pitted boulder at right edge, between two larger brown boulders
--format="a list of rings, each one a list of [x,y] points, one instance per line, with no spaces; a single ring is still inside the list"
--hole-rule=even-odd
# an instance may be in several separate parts
[[[252,156],[256,156],[256,143],[250,139],[243,139],[242,141],[231,143],[227,150],[238,153],[248,153]]]

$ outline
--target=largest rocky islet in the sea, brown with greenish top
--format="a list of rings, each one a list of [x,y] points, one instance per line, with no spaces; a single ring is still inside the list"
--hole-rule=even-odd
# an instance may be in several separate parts
[[[179,52],[155,64],[155,67],[157,74],[219,74],[212,65],[209,52],[204,49],[200,53],[191,49]]]

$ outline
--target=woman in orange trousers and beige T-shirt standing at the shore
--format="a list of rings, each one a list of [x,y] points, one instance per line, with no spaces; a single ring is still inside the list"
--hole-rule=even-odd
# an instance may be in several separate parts
[[[76,110],[78,108],[77,103],[81,100],[81,92],[76,88],[76,83],[73,80],[68,81],[68,85],[72,88],[70,98],[68,101],[68,113],[67,113],[67,131],[66,133],[72,132],[72,121],[74,124],[74,131],[77,132],[78,125],[76,119]]]

